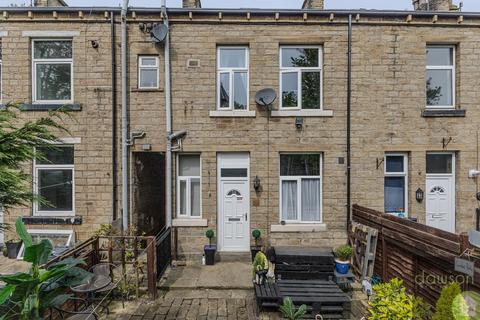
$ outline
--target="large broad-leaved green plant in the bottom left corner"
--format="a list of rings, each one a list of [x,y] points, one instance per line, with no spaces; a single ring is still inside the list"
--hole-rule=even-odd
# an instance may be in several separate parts
[[[25,245],[23,260],[31,263],[29,272],[0,276],[6,286],[0,290],[0,320],[39,320],[51,307],[63,305],[72,295],[66,288],[84,283],[93,275],[79,265],[82,260],[67,258],[45,268],[52,244],[43,239],[34,243],[21,218],[16,232]]]

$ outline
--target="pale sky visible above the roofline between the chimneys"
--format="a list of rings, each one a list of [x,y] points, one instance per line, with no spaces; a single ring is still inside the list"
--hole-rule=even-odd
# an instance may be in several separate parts
[[[33,0],[0,0],[0,7],[29,5]],[[119,6],[121,0],[65,0],[74,6]],[[130,0],[134,7],[159,7],[160,0]],[[181,0],[167,0],[167,6],[180,7]],[[299,9],[303,0],[202,0],[204,8],[278,8]],[[460,0],[454,0],[458,4]],[[480,11],[480,0],[463,0],[463,11]],[[326,9],[397,9],[411,10],[412,0],[325,0]]]

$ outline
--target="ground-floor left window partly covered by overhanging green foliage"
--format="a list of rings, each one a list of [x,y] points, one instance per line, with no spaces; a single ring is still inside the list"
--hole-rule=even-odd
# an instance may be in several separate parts
[[[72,146],[37,149],[42,159],[34,161],[34,192],[44,202],[34,204],[35,215],[74,214],[74,151]]]

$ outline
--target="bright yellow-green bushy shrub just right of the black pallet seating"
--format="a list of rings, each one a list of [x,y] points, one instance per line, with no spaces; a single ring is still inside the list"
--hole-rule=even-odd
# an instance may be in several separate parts
[[[397,278],[373,287],[369,301],[369,320],[413,319],[413,297],[406,293],[403,281]]]

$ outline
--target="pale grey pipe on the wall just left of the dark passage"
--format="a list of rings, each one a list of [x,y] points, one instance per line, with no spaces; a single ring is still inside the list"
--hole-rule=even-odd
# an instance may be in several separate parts
[[[122,230],[128,229],[128,114],[127,114],[127,10],[128,0],[122,4]]]

